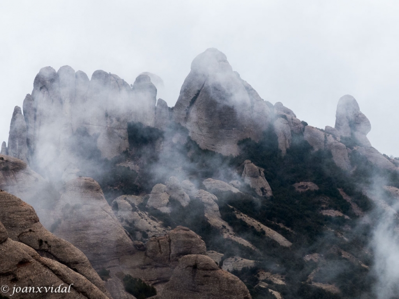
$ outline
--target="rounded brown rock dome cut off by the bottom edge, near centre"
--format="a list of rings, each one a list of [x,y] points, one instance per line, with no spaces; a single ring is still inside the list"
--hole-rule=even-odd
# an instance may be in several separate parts
[[[190,277],[191,279],[187,279]],[[244,283],[217,267],[204,255],[187,255],[179,260],[171,280],[156,299],[250,299]]]

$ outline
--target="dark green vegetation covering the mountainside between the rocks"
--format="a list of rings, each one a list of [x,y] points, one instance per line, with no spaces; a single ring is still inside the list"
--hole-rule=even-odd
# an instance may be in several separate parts
[[[200,149],[190,139],[187,129],[177,124],[165,131],[129,124],[128,133],[129,150],[121,156],[106,160],[94,151],[89,157],[93,164],[102,165],[103,172],[90,176],[100,183],[108,201],[122,194],[148,194],[156,183],[165,183],[170,176],[179,177],[181,173],[185,173],[184,179],[189,178],[200,188],[204,188],[202,180],[208,177],[223,181],[237,179],[246,159],[264,169],[265,178],[273,190],[271,198],[259,197],[247,185],[240,187],[243,193],[214,192],[222,219],[237,236],[252,243],[260,253],[223,239],[219,230],[205,218],[203,204],[193,198],[186,207],[171,198],[170,214],[146,208],[148,197],[139,205],[141,210],[172,229],[183,225],[199,234],[208,250],[224,254],[220,265],[232,256],[258,261],[255,268],[234,272],[246,284],[253,299],[273,296],[267,289],[256,287],[256,274],[260,270],[284,276],[286,285],[269,283],[268,287],[278,291],[284,299],[374,298],[371,286],[375,278],[367,270],[372,266],[372,256],[364,250],[371,240],[372,224],[358,223],[359,217],[338,189],[348,194],[363,211],[369,211],[373,204],[359,191],[359,186],[371,184],[377,175],[388,178],[390,185],[399,187],[398,173],[378,169],[356,150],[350,154],[354,170],[344,171],[335,164],[330,151],[313,151],[301,134],[293,135],[292,145],[282,157],[272,127],[258,142],[250,139],[239,142],[241,153],[236,157]],[[86,137],[85,132],[79,134]],[[345,142],[350,145],[353,141],[348,139]],[[82,151],[80,154],[84,156],[87,153]],[[139,165],[140,170],[136,172],[121,164],[127,160]],[[87,171],[90,173],[91,169]],[[319,189],[297,192],[293,184],[301,181],[312,181]],[[392,195],[385,192],[388,200],[393,201]],[[292,242],[292,246],[278,245],[264,232],[238,219],[229,206],[275,230]],[[321,213],[328,209],[339,211],[350,219]],[[143,237],[149,236],[144,234]],[[304,261],[305,255],[313,253],[322,254],[323,262]],[[362,264],[350,260],[348,255]],[[319,267],[313,282],[335,285],[340,294],[311,285],[309,275]]]

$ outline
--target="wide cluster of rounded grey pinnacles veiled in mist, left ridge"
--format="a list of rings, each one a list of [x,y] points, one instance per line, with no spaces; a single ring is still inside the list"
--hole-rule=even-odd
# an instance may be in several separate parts
[[[129,148],[129,122],[166,126],[169,108],[159,101],[156,115],[156,95],[147,75],[139,75],[131,87],[102,70],[89,80],[84,72],[69,66],[58,72],[42,68],[32,94],[24,100],[23,117],[14,112],[9,154],[29,160],[30,166],[45,176],[73,178],[81,163],[71,154],[78,137],[90,137],[101,156],[110,159]]]

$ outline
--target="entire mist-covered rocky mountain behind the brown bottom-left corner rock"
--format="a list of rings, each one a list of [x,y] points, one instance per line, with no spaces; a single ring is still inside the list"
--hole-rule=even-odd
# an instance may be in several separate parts
[[[372,147],[355,98],[338,100],[335,128],[312,127],[215,48],[193,60],[174,107],[163,88],[148,72],[129,84],[44,67],[1,147],[0,188],[87,257],[104,296],[399,296],[399,160]],[[14,241],[59,260],[32,238]]]

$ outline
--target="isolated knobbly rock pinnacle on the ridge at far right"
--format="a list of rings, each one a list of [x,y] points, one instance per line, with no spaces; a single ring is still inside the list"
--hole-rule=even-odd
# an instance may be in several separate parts
[[[351,95],[345,95],[338,101],[335,129],[341,136],[353,136],[361,146],[371,147],[366,137],[371,130],[370,121],[360,111],[358,102]]]

